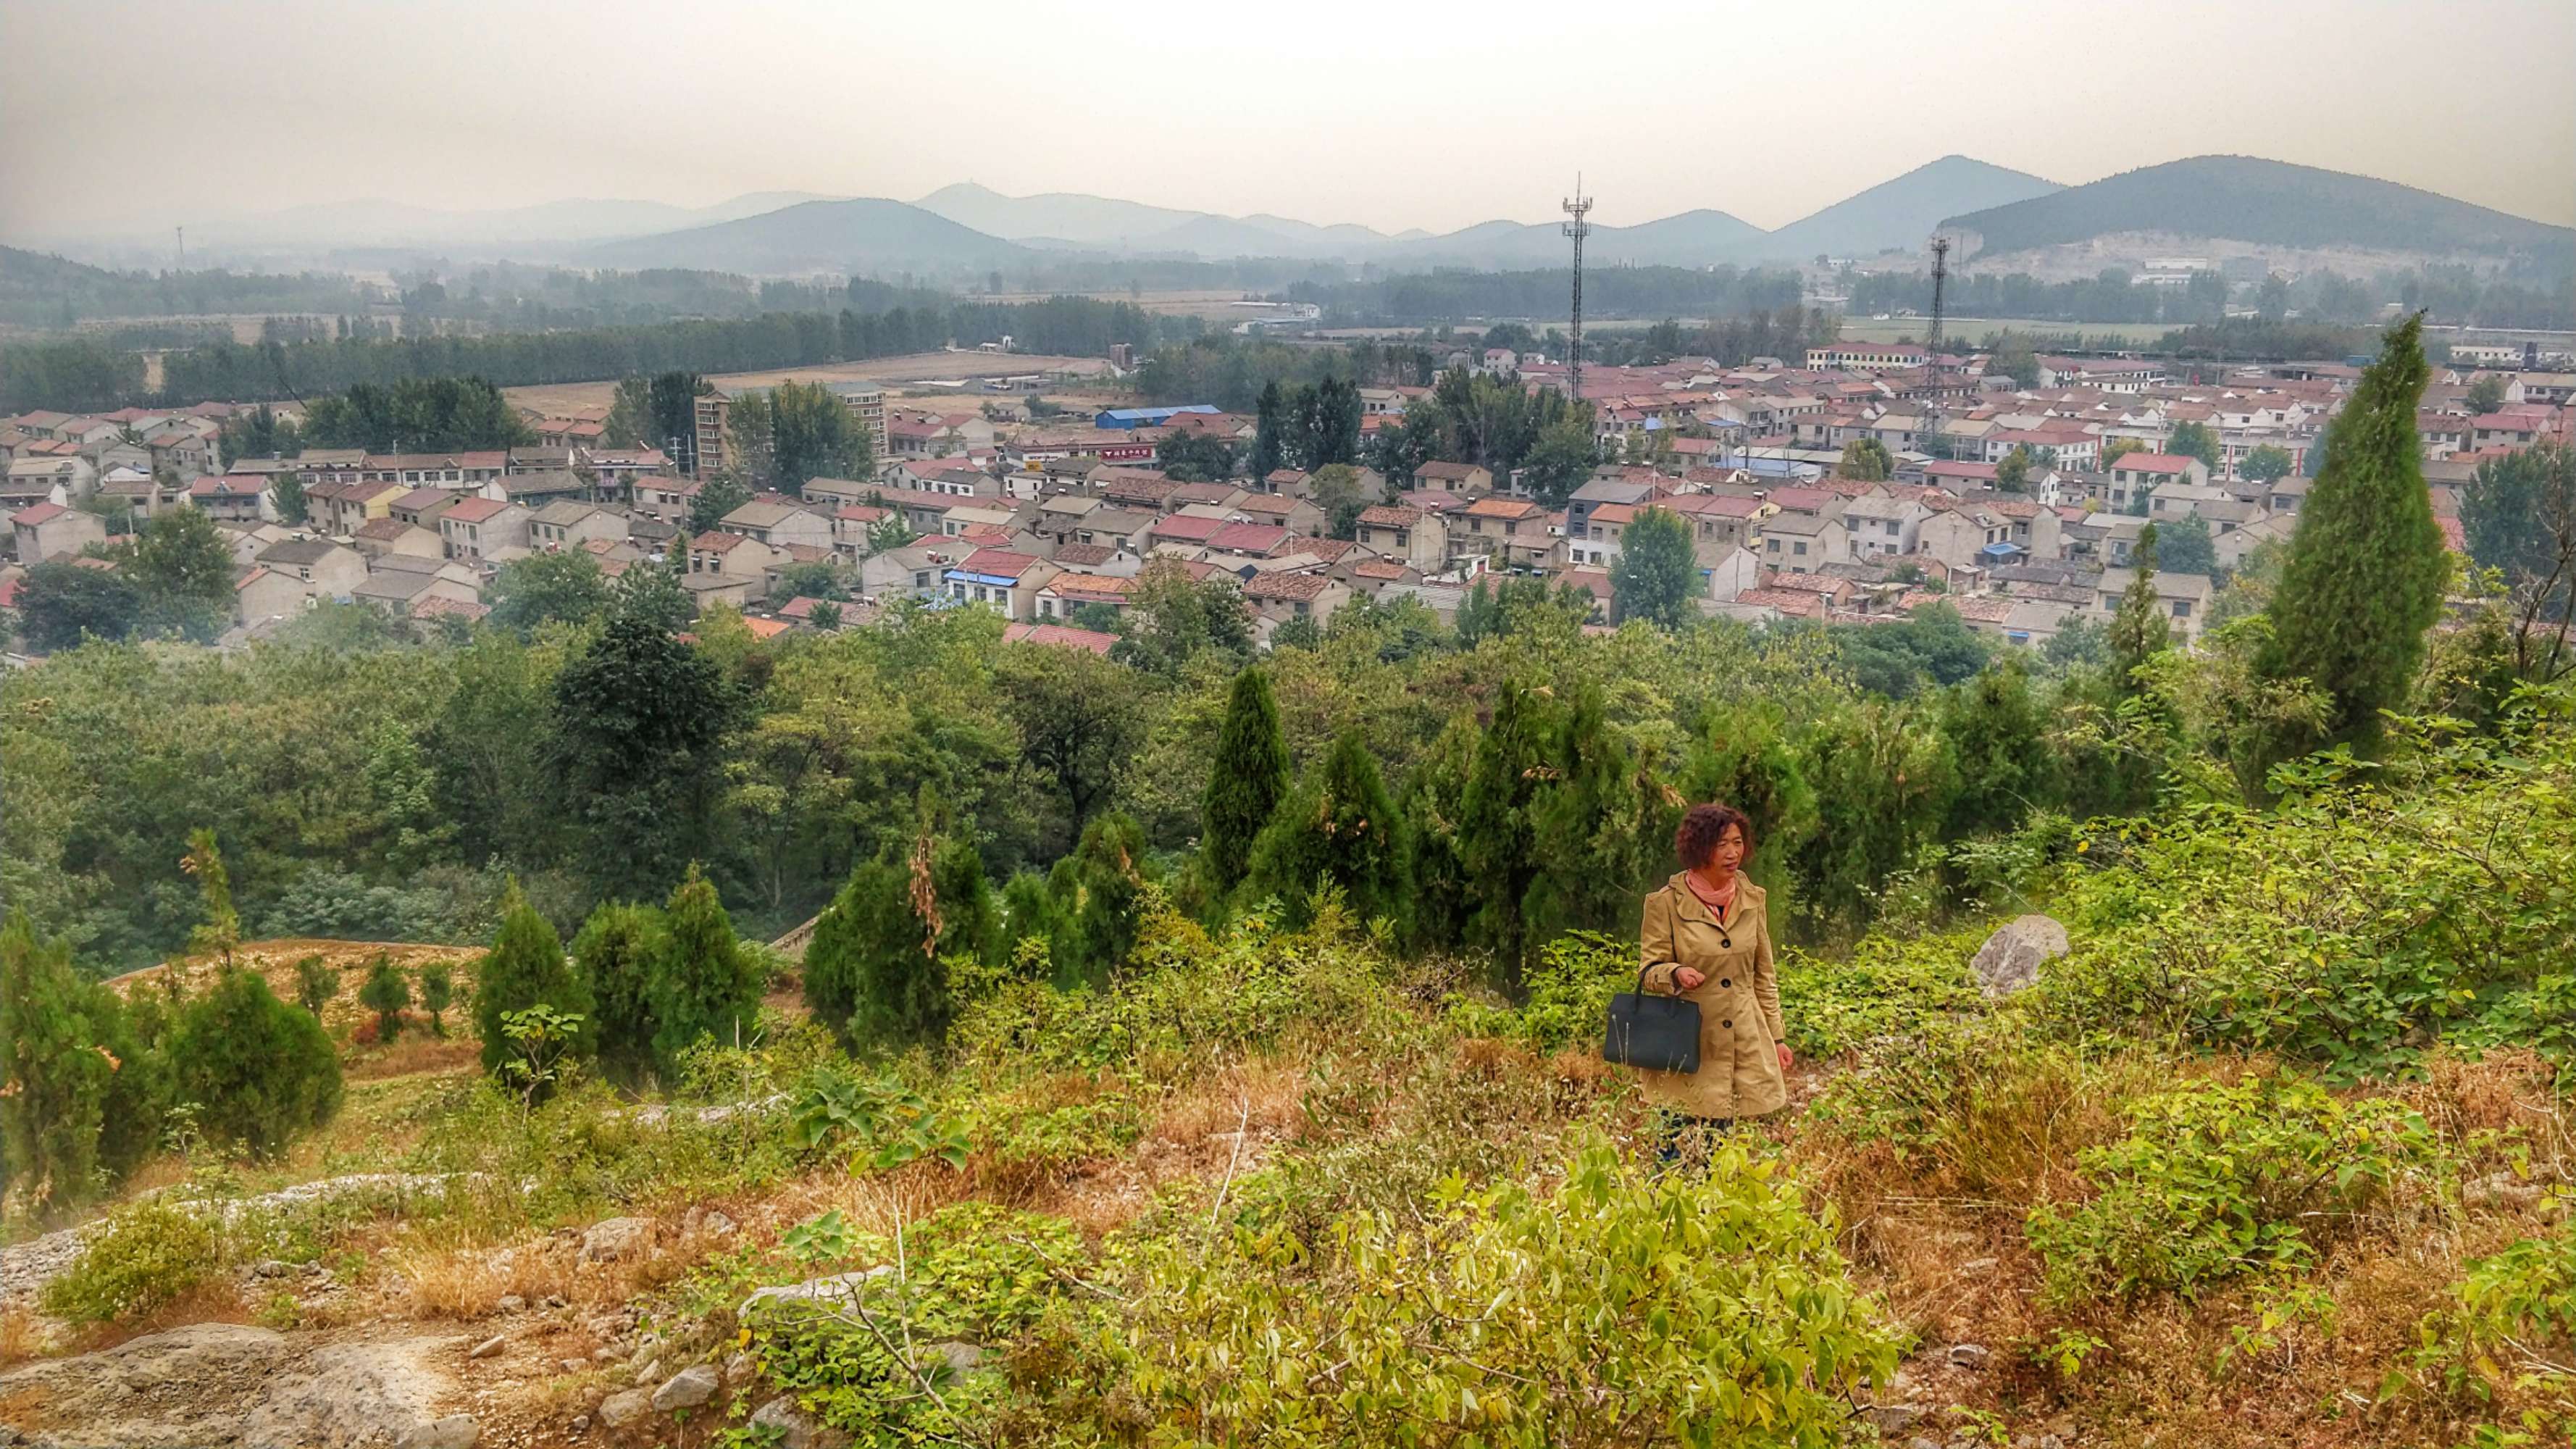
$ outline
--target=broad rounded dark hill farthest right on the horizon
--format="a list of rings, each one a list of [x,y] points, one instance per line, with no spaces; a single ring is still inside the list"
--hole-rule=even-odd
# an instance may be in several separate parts
[[[1942,227],[1976,232],[1981,253],[2020,253],[2115,232],[2172,232],[2280,248],[2576,255],[2576,232],[2568,227],[2393,180],[2241,155],[2123,170],[2030,201],[1950,217]]]

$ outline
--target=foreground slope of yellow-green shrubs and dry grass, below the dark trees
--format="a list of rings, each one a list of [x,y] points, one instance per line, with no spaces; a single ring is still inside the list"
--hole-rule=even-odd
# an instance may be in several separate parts
[[[1144,887],[1108,985],[1036,933],[958,941],[935,1049],[853,1060],[773,1003],[654,1111],[580,1055],[536,1093],[433,1078],[340,1168],[443,1186],[188,1217],[245,1191],[201,1171],[44,1305],[139,1325],[319,1258],[340,1292],[263,1312],[492,1320],[546,1343],[546,1392],[487,1413],[613,1444],[672,1434],[644,1359],[716,1364],[680,1418],[739,1444],[755,1413],[994,1446],[2553,1444],[2571,810],[2540,694],[2275,810],[2071,830],[1999,887],[2069,923],[2035,985],[1989,998],[1968,918],[1790,951],[1803,1106],[1667,1176],[1592,1055],[1633,946],[1558,936],[1515,1006],[1332,890],[1211,933]],[[603,1217],[641,1248],[546,1232]],[[649,1336],[600,1328],[626,1302]]]

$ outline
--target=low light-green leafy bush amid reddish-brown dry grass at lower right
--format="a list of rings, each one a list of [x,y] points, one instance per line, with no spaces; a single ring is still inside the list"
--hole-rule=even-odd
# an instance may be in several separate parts
[[[2298,1269],[2360,1214],[2437,1168],[2424,1119],[2342,1101],[2295,1075],[2195,1083],[2130,1109],[2130,1134],[2084,1152],[2099,1196],[2030,1214],[2058,1302]]]

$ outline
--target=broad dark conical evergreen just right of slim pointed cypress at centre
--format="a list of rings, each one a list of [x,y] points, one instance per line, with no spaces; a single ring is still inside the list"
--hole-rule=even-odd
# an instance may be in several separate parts
[[[1355,727],[1306,771],[1252,851],[1249,890],[1278,897],[1288,926],[1306,923],[1319,882],[1342,887],[1358,920],[1401,918],[1401,815]]]

